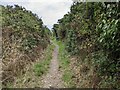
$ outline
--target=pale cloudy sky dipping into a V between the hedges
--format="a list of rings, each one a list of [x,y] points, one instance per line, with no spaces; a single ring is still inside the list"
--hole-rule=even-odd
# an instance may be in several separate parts
[[[70,11],[72,3],[72,0],[0,0],[0,5],[18,4],[36,13],[50,29]]]

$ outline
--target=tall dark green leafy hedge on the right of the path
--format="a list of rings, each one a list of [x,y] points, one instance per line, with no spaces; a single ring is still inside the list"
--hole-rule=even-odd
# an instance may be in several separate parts
[[[70,12],[53,27],[70,54],[81,60],[91,56],[95,72],[104,80],[99,87],[119,88],[119,8],[119,2],[74,2]]]

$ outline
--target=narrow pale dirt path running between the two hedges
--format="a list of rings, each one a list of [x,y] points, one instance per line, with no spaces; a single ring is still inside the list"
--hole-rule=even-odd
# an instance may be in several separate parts
[[[59,71],[58,62],[59,46],[55,44],[55,49],[53,51],[53,58],[50,63],[49,72],[46,76],[43,76],[43,88],[62,88],[63,82],[61,80],[61,73]]]

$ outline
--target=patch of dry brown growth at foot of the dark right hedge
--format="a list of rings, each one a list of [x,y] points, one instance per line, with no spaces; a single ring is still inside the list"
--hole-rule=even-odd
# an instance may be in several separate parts
[[[74,72],[73,81],[77,88],[97,88],[100,78],[96,75],[94,67],[80,58],[71,58],[71,70]]]

